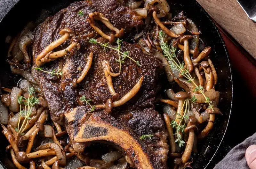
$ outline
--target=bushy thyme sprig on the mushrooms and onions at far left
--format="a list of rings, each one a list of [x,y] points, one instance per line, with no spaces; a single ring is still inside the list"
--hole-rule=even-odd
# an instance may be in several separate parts
[[[15,128],[15,130],[18,133],[20,133],[21,135],[24,135],[23,132],[28,125],[28,120],[31,119],[30,115],[32,113],[31,112],[32,107],[39,103],[39,99],[34,97],[34,95],[33,95],[35,91],[36,90],[34,89],[34,87],[30,87],[30,88],[28,88],[28,93],[29,93],[28,99],[24,98],[23,96],[19,96],[19,98],[18,98],[18,103],[20,104],[20,118],[18,121],[18,127]],[[23,110],[21,108],[22,104],[25,105],[25,108]],[[24,117],[24,120],[20,127],[21,116]]]

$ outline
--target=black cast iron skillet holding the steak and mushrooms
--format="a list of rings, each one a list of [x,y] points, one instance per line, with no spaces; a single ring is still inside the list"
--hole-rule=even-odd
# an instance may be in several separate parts
[[[35,21],[40,15],[42,16],[42,10],[44,11],[44,16],[55,14],[72,2],[72,0],[5,0],[0,2],[0,21],[3,19],[0,23],[0,79],[2,86],[11,87],[17,85],[17,82],[21,78],[18,75],[13,75],[10,72],[9,65],[5,62],[9,46],[4,42],[6,36],[16,36],[29,21]],[[172,8],[172,16],[175,16],[180,11],[184,11],[185,16],[192,19],[199,30],[201,30],[202,35],[200,37],[205,42],[205,46],[212,47],[211,58],[219,77],[216,90],[220,91],[221,99],[218,107],[223,112],[223,115],[217,116],[210,135],[198,143],[199,152],[193,158],[193,168],[206,168],[220,148],[220,143],[225,135],[231,113],[233,87],[228,52],[212,19],[195,0],[170,2],[170,6]],[[42,21],[39,20],[39,22]],[[14,166],[12,161],[9,160],[9,155],[6,156],[5,152],[8,142],[2,134],[0,134],[0,139],[0,163],[6,169],[11,169]]]

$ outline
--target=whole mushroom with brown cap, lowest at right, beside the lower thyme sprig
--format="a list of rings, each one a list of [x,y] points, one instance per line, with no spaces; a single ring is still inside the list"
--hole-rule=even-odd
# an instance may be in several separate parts
[[[193,118],[195,118],[195,117],[189,116],[189,122],[185,129],[185,132],[189,132],[189,135],[188,135],[188,141],[186,144],[185,151],[181,157],[183,164],[188,162],[191,152],[192,152],[193,144],[194,144],[194,139],[195,139],[195,131],[194,130],[196,129],[196,123],[195,123],[195,119],[193,119]]]

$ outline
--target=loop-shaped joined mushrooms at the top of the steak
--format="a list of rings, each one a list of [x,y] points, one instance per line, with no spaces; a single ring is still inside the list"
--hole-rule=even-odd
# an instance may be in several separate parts
[[[111,36],[105,34],[104,32],[102,32],[102,30],[100,30],[100,28],[98,28],[97,26],[95,26],[95,21],[99,20],[101,21],[103,24],[105,24],[110,30],[115,31],[116,34],[111,34]],[[113,26],[109,20],[107,18],[104,17],[104,15],[100,12],[93,12],[93,13],[89,13],[89,18],[86,19],[87,22],[89,22],[89,24],[92,26],[92,28],[99,33],[103,38],[108,39],[111,42],[113,42],[115,40],[115,38],[121,38],[124,34],[124,29],[122,28],[121,30],[117,29],[115,26]]]

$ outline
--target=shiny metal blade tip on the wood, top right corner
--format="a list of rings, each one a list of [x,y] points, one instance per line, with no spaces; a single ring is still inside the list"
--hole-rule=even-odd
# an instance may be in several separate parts
[[[256,22],[256,0],[237,0],[247,16]]]

